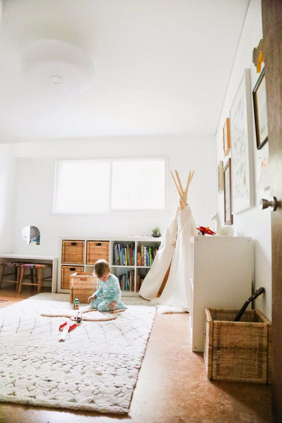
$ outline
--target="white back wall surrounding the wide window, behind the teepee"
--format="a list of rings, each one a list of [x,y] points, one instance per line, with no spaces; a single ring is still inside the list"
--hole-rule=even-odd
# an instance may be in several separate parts
[[[15,252],[56,254],[59,235],[127,236],[150,234],[158,225],[163,233],[178,204],[171,178],[168,179],[168,212],[118,214],[53,214],[56,159],[166,155],[169,168],[177,169],[182,180],[195,169],[188,202],[197,224],[210,225],[216,209],[214,137],[146,136],[14,144],[16,184],[12,249]],[[94,194],[95,183],[93,181]],[[74,192],[79,195],[79,192]],[[26,245],[20,230],[26,225],[40,230],[40,245]]]

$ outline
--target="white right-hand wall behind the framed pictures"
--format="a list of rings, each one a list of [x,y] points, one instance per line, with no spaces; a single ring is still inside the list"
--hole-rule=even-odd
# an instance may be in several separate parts
[[[241,38],[234,61],[232,73],[229,80],[228,89],[220,115],[218,129],[216,132],[216,156],[217,164],[219,160],[223,160],[225,164],[228,157],[223,157],[222,150],[222,127],[226,117],[229,117],[229,111],[236,95],[240,80],[243,76],[244,68],[250,69],[251,90],[253,89],[258,73],[252,64],[252,49],[262,38],[261,24],[261,5],[259,0],[251,0]],[[254,246],[254,271],[253,285],[254,289],[263,286],[266,290],[265,295],[260,296],[255,307],[260,309],[268,319],[271,319],[271,227],[270,227],[270,210],[260,210],[258,206],[259,198],[270,197],[269,189],[258,190],[257,182],[259,179],[259,163],[263,157],[268,156],[268,144],[266,143],[260,150],[256,149],[255,128],[253,121],[253,160],[254,160],[254,186],[255,186],[255,206],[239,214],[233,215],[233,227],[235,233],[240,236],[251,236]],[[223,193],[217,195],[217,208],[220,215],[224,215],[223,209]],[[222,220],[222,218],[221,218]],[[239,263],[238,263],[239,265]]]

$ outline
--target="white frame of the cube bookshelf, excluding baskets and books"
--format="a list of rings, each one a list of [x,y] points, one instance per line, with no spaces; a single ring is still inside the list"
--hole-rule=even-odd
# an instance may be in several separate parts
[[[81,260],[80,263],[66,263],[63,262],[62,263],[62,241],[82,241],[84,242],[84,257],[83,260]],[[135,237],[135,236],[125,236],[125,237],[114,237],[114,238],[110,238],[110,237],[102,237],[102,238],[97,238],[97,237],[84,237],[84,236],[60,236],[59,237],[59,248],[58,248],[58,273],[57,273],[57,292],[65,292],[65,293],[69,293],[69,289],[64,289],[61,287],[61,269],[62,266],[69,266],[74,269],[75,267],[81,267],[81,271],[83,272],[92,272],[94,269],[94,264],[86,264],[86,245],[87,245],[87,241],[96,241],[96,242],[105,242],[108,241],[109,242],[109,264],[110,264],[110,268],[111,268],[111,273],[115,274],[116,276],[120,276],[122,274],[124,274],[126,271],[128,270],[134,270],[134,286],[133,286],[133,290],[122,290],[122,295],[124,296],[137,296],[138,295],[138,290],[136,289],[136,279],[137,279],[137,275],[140,274],[142,276],[145,275],[146,271],[148,271],[150,269],[150,266],[145,265],[145,266],[140,266],[137,265],[137,248],[141,247],[141,245],[144,246],[153,246],[153,245],[157,245],[157,247],[159,247],[160,242],[161,242],[161,237],[159,238],[154,238],[152,236],[140,236],[140,237]],[[113,260],[113,246],[115,243],[120,243],[120,244],[132,244],[134,246],[134,264],[132,265],[119,265],[119,264],[114,264]],[[75,270],[73,270],[75,271]]]

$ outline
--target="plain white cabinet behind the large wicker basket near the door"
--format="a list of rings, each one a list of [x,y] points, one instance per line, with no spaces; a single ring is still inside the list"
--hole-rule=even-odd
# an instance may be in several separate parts
[[[251,295],[251,238],[191,237],[192,350],[203,351],[205,308],[240,309]]]

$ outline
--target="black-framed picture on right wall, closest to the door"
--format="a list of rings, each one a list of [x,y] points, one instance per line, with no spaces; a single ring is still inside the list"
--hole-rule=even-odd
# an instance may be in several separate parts
[[[268,139],[267,111],[266,111],[266,91],[264,68],[252,91],[256,148],[259,150]]]

